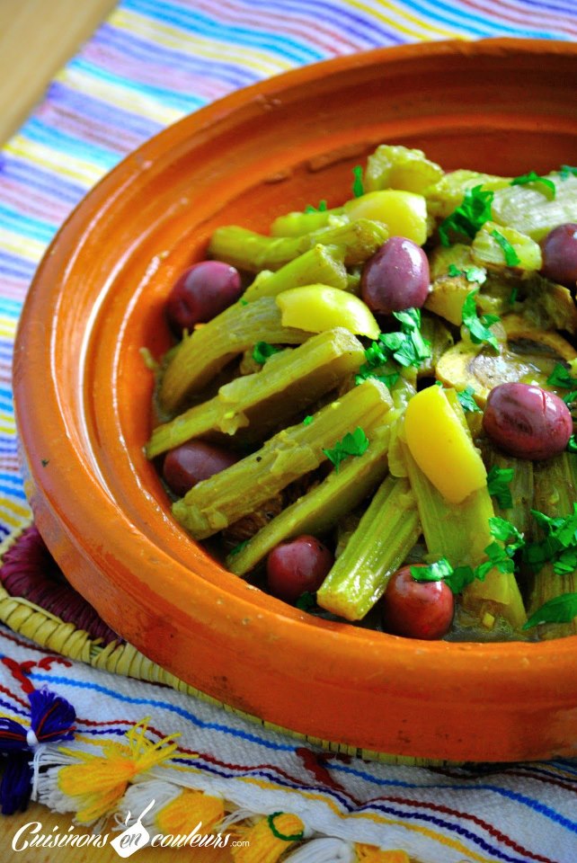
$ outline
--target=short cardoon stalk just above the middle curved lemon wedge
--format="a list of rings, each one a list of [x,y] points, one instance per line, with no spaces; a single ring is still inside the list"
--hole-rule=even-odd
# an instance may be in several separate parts
[[[283,290],[302,285],[328,285],[347,288],[344,253],[337,245],[315,245],[276,272],[262,271],[244,291],[243,299],[252,302],[260,297],[276,297]]]

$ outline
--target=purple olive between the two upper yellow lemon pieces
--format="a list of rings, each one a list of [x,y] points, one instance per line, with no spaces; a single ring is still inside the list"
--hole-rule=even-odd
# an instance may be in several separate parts
[[[360,293],[372,312],[390,315],[421,308],[430,281],[429,261],[421,246],[404,236],[391,236],[363,267]]]

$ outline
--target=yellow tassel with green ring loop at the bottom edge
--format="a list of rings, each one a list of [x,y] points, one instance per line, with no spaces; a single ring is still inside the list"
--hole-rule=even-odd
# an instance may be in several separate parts
[[[285,851],[302,840],[305,825],[297,815],[276,812],[256,824],[236,828],[248,844],[231,848],[235,863],[277,863]]]

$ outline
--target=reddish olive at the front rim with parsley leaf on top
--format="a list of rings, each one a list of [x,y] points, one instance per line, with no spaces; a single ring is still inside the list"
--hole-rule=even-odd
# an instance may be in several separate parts
[[[455,611],[448,585],[418,582],[411,574],[411,566],[403,566],[391,575],[381,603],[386,632],[428,641],[447,635]]]

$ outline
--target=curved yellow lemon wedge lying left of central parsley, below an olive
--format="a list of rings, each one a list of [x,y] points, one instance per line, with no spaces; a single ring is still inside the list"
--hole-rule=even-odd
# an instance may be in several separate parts
[[[277,296],[283,326],[309,333],[324,333],[343,326],[353,335],[377,339],[380,327],[362,299],[328,285],[303,285],[283,290]]]

